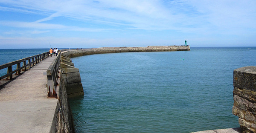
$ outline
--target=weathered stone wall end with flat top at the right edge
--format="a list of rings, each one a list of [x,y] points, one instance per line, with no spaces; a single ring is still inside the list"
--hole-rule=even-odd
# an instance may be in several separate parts
[[[241,67],[233,75],[233,114],[242,133],[256,133],[256,67]]]

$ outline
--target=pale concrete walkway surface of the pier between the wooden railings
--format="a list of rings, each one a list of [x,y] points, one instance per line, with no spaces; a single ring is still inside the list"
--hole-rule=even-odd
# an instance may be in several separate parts
[[[50,132],[58,99],[47,97],[44,72],[55,57],[44,59],[4,87],[0,86],[1,133]]]

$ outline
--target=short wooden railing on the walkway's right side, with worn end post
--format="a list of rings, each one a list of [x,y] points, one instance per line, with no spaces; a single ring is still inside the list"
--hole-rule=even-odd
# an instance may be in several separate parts
[[[61,50],[62,51],[62,50]],[[61,52],[58,53],[58,56],[52,61],[52,64],[47,69],[47,92],[49,97],[56,97],[56,87],[58,85],[58,73],[61,64]]]

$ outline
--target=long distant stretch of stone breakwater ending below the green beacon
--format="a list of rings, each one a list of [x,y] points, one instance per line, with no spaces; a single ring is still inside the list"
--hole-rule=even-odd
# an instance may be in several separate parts
[[[117,52],[156,52],[156,51],[187,51],[189,46],[146,46],[146,47],[103,47],[93,49],[79,49],[64,51],[62,55],[77,57],[93,54],[117,53]]]

